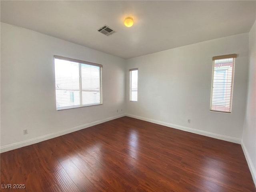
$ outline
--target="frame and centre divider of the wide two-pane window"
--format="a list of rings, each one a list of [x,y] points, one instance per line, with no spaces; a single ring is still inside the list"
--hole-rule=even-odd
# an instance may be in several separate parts
[[[69,61],[69,62],[76,62],[79,64],[79,94],[80,94],[80,105],[76,105],[76,106],[65,106],[65,107],[61,107],[58,108],[57,105],[57,96],[56,96],[56,73],[55,73],[55,59],[59,59],[59,60],[65,60],[65,61]],[[99,82],[100,82],[100,102],[97,104],[84,104],[81,105],[81,102],[83,102],[82,99],[82,75],[81,75],[81,66],[82,64],[86,64],[86,65],[90,65],[90,66],[97,66],[99,67]],[[87,61],[83,61],[83,60],[77,60],[77,59],[73,59],[73,58],[68,58],[68,57],[63,57],[63,56],[58,56],[58,55],[54,55],[54,80],[55,80],[55,102],[56,102],[56,110],[65,110],[65,109],[72,109],[72,108],[80,108],[80,107],[86,107],[86,106],[95,106],[95,105],[101,105],[103,104],[103,95],[102,95],[102,68],[103,65],[101,64],[96,64],[96,63],[92,63],[92,62],[87,62]]]

